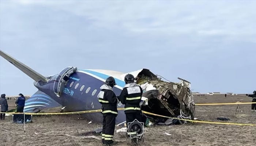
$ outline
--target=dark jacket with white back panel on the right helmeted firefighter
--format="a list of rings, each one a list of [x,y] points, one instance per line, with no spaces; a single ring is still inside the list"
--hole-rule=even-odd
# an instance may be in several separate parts
[[[143,90],[142,88],[135,84],[130,83],[125,85],[123,91],[121,92],[118,99],[121,101],[124,106],[124,113],[131,112],[141,112],[140,110],[140,101],[142,97]]]

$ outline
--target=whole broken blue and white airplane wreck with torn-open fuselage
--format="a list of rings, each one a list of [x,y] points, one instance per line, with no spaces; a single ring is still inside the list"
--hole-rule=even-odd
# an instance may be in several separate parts
[[[26,100],[24,112],[27,113],[54,107],[62,107],[61,110],[64,112],[101,109],[97,96],[101,90],[99,87],[106,78],[112,76],[117,83],[113,91],[118,96],[125,86],[124,76],[128,74],[113,70],[67,67],[58,74],[45,77],[1,50],[0,55],[34,80],[34,86],[38,91]],[[143,111],[172,118],[194,119],[195,103],[190,82],[181,78],[178,78],[181,82],[163,81],[148,69],[129,73],[135,77],[136,84],[143,89],[142,96],[145,99],[145,103],[141,106]],[[123,107],[123,104],[118,104],[118,108]],[[102,122],[100,112],[80,114],[80,116],[95,123]],[[166,125],[186,123],[172,118],[143,114],[145,126],[150,126],[149,123]],[[124,122],[124,112],[118,111],[116,124],[120,125]]]

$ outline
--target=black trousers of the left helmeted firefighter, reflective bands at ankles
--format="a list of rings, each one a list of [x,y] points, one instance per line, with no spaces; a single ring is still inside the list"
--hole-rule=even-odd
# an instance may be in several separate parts
[[[103,114],[101,141],[104,144],[113,143],[116,114]]]

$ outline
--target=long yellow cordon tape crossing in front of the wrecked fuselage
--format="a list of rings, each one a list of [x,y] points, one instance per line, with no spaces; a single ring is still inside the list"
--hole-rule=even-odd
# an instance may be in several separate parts
[[[124,108],[117,108],[118,111],[124,110]],[[62,113],[18,113],[18,112],[0,112],[0,113],[5,113],[5,114],[25,114],[25,115],[72,115],[72,114],[87,114],[87,113],[95,113],[95,112],[101,112],[102,110],[90,110],[90,111],[78,111],[78,112],[62,112]],[[222,123],[222,122],[208,122],[208,121],[199,121],[199,120],[187,120],[187,119],[179,119],[179,118],[174,118],[174,117],[169,117],[169,116],[163,116],[163,115],[158,115],[154,114],[151,112],[146,112],[142,111],[144,114],[148,115],[154,115],[154,116],[159,116],[163,118],[171,118],[171,119],[177,119],[177,120],[184,120],[184,121],[189,121],[189,122],[196,122],[196,123],[208,123],[208,124],[226,124],[226,125],[239,125],[239,126],[256,126],[256,124],[243,124],[243,123]]]

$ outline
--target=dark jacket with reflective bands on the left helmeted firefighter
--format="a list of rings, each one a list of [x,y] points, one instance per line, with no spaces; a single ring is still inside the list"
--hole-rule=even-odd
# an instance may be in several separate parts
[[[117,115],[117,102],[116,94],[113,92],[112,87],[104,84],[100,87],[101,91],[98,94],[99,103],[102,104],[102,114],[116,114]]]

